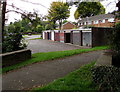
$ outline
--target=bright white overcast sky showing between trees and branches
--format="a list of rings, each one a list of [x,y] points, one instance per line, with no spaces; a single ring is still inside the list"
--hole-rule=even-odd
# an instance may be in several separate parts
[[[39,14],[46,15],[48,8],[50,7],[50,4],[53,1],[64,1],[65,2],[66,0],[27,0],[27,1],[30,1],[33,3],[39,3],[41,5],[34,5],[31,3],[26,3],[26,2],[23,2],[22,0],[7,0],[7,1],[8,1],[9,5],[14,4],[15,6],[21,8],[22,10],[32,12],[33,9],[35,9],[39,12]],[[117,1],[118,0],[104,0],[103,2],[101,2],[102,5],[106,8],[106,13],[112,12],[113,10],[117,9],[116,8]],[[112,3],[110,3],[110,2],[112,2]],[[13,10],[13,8],[11,8],[10,6],[7,6],[7,9]],[[76,7],[72,6],[71,10],[70,10],[70,17],[68,18],[69,21],[75,21],[75,19],[74,19],[75,10],[76,10]],[[10,22],[14,22],[15,19],[21,18],[19,14],[15,14],[13,12],[8,13],[6,17],[8,17],[8,19],[9,19],[7,24]]]

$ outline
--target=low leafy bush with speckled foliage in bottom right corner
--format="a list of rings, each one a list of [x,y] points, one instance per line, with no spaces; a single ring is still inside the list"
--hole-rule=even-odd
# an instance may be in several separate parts
[[[120,68],[97,66],[92,69],[93,82],[100,92],[118,92],[120,88]]]

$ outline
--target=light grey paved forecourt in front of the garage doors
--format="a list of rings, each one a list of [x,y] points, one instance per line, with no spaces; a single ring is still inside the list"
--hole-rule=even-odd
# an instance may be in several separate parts
[[[61,42],[54,42],[51,40],[28,40],[28,49],[32,50],[32,53],[38,52],[51,52],[51,51],[64,51],[72,49],[80,49],[85,47],[65,44]]]

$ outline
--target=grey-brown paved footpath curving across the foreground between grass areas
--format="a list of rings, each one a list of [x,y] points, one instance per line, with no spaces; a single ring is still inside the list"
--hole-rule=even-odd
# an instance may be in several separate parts
[[[81,65],[97,60],[102,51],[93,51],[57,59],[39,62],[21,69],[3,74],[3,90],[22,90],[33,86],[45,85],[78,69]]]

